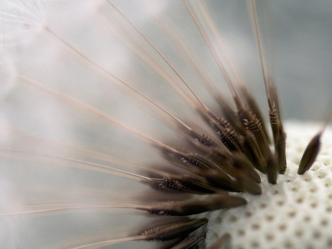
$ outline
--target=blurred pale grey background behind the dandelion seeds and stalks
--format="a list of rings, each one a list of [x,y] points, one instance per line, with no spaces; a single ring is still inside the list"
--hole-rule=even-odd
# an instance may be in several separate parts
[[[196,122],[197,113],[191,112],[189,108],[186,108],[186,106],[183,105],[184,101],[179,98],[179,96],[173,98],[175,91],[171,89],[169,83],[163,82],[160,76],[156,75],[149,66],[141,63],[140,59],[132,55],[130,51],[127,53],[121,50],[125,41],[118,41],[116,39],[114,39],[116,41],[108,40],[114,37],[111,32],[106,32],[111,29],[109,29],[109,24],[101,20],[101,18],[104,17],[103,11],[106,12],[105,16],[110,13],[111,16],[117,15],[110,6],[107,6],[106,3],[101,3],[99,6],[99,2],[102,1],[91,1],[92,7],[89,5],[82,7],[82,5],[89,1],[76,1],[76,3],[72,1],[70,8],[67,8],[67,6],[63,4],[66,1],[51,1],[50,5],[53,5],[55,2],[59,2],[60,4],[51,11],[49,17],[47,16],[47,21],[49,21],[50,27],[61,34],[66,41],[75,44],[84,53],[96,59],[102,66],[109,69],[117,76],[127,80],[143,93],[152,96],[154,100],[160,101],[163,107],[170,110],[176,116],[183,118],[184,121],[189,121],[189,124],[190,121],[192,121],[192,123]],[[98,3],[96,4],[96,2]],[[225,98],[229,98],[229,92],[223,82],[222,76],[220,76],[220,72],[216,69],[204,42],[200,38],[199,33],[195,29],[181,1],[118,0],[114,2],[119,9],[148,36],[164,55],[171,60],[172,64],[174,64],[179,72],[190,82],[194,90],[202,97],[207,105],[213,107],[213,101],[210,101],[211,96],[204,90],[201,82],[197,81],[192,71],[188,70],[188,64],[178,60],[177,50],[174,49],[172,43],[167,40],[167,35],[160,30],[160,27],[158,28],[158,26],[155,25],[151,13],[147,13],[146,6],[151,7],[156,4],[157,7],[153,10],[156,18],[164,16],[172,21],[174,24],[173,27],[179,29],[178,34],[185,36],[187,38],[186,44],[191,46],[193,51],[197,53],[199,62],[204,67],[204,70],[217,82],[218,88]],[[1,7],[4,6],[2,4],[5,3],[0,0],[0,4]],[[193,1],[192,4],[195,5],[195,1]],[[267,103],[258,51],[255,38],[252,34],[252,27],[250,19],[248,18],[245,1],[210,0],[206,1],[206,6],[220,34],[222,34],[229,44],[229,52],[232,54],[234,64],[239,67],[239,71],[246,85],[259,101],[263,113],[267,117]],[[158,10],[160,10],[161,13],[158,13]],[[257,11],[266,55],[279,91],[280,105],[283,114],[282,118],[284,120],[322,121],[327,110],[332,108],[331,104],[329,104],[332,92],[332,1],[257,1]],[[28,17],[31,18],[31,16]],[[123,25],[126,25],[125,21]],[[0,29],[3,27],[6,27],[5,23],[3,23],[3,25],[0,24]],[[140,39],[139,44],[142,44],[144,49],[148,50],[147,52],[152,54],[152,56],[163,65],[165,70],[169,70],[167,65],[160,60],[160,57],[155,55],[155,51],[153,51],[145,41],[142,41],[137,34],[135,35],[135,31],[132,28],[128,27],[128,25],[125,26],[125,28],[132,35],[133,39]],[[4,33],[5,32],[0,32],[0,34]],[[56,39],[47,34],[47,32],[42,34],[36,33],[37,38],[35,41],[33,40],[30,45],[18,44],[17,46],[1,47],[1,52],[6,50],[8,51],[9,57],[12,56],[11,59],[14,61],[13,65],[16,63],[15,66],[19,68],[19,72],[39,81],[46,87],[61,91],[86,104],[91,104],[93,107],[111,116],[115,116],[125,124],[137,128],[143,133],[149,134],[151,137],[160,139],[161,141],[163,141],[162,139],[165,139],[166,136],[169,136],[167,138],[170,141],[177,138],[177,134],[172,133],[172,130],[166,130],[167,127],[164,126],[167,125],[164,120],[160,121],[160,119],[158,119],[159,117],[156,118],[157,115],[155,115],[155,113],[143,107],[141,102],[136,102],[137,99],[132,98],[132,95],[127,94],[127,92],[125,95],[120,90],[113,89],[113,85],[109,84],[108,79],[106,79],[104,75],[96,73],[96,70],[90,67],[91,65],[88,65],[86,61],[79,58],[73,51],[69,51],[70,49],[59,41],[56,41]],[[118,47],[119,49],[117,49]],[[1,55],[3,54],[4,53]],[[12,69],[11,66],[13,65],[8,64],[9,68]],[[119,127],[112,126],[109,123],[103,123],[94,116],[91,117],[87,115],[85,112],[80,113],[74,108],[72,110],[72,108],[68,108],[65,102],[60,102],[59,104],[59,102],[54,101],[54,99],[50,98],[47,94],[43,94],[38,90],[26,91],[24,88],[16,88],[15,80],[14,83],[11,84],[10,79],[5,77],[4,79],[3,81],[0,79],[4,86],[1,93],[5,92],[4,88],[8,88],[9,94],[8,96],[3,94],[4,98],[1,104],[4,104],[4,108],[2,108],[1,111],[5,112],[4,116],[15,128],[22,128],[22,130],[27,130],[35,136],[38,135],[48,139],[46,141],[60,141],[59,144],[61,145],[66,143],[70,145],[73,143],[74,145],[85,147],[89,151],[94,149],[95,151],[104,152],[105,154],[114,154],[118,158],[122,157],[127,161],[132,160],[136,162],[138,159],[142,160],[142,157],[150,162],[160,159],[156,156],[159,152],[153,151],[151,147],[144,144],[145,141],[142,141],[143,139],[134,137],[132,134],[126,133],[119,129]],[[145,111],[146,113],[144,113]],[[159,113],[161,113],[160,110]],[[199,121],[197,125],[200,125]],[[13,140],[15,140],[14,135],[16,134],[13,133],[10,135],[12,135]],[[33,141],[29,141],[30,140],[24,141],[24,139],[19,137],[19,139],[15,140],[15,143],[10,143],[10,145],[13,147],[18,146],[19,148],[20,146],[23,148],[26,146],[29,150],[35,149],[34,146],[36,146],[37,151],[44,151],[48,147],[52,148],[50,144],[44,146],[43,143],[35,144],[32,143]],[[54,144],[56,145],[56,143]],[[144,149],[146,151],[144,151]],[[140,150],[143,150],[145,153]],[[52,153],[60,152],[56,151]],[[75,153],[71,151],[68,153],[71,157],[75,156]],[[146,157],[144,155],[149,156]],[[102,201],[109,200],[109,196],[116,196],[113,192],[118,192],[119,190],[122,190],[123,192],[121,193],[124,194],[133,194],[134,190],[140,193],[139,188],[136,188],[133,183],[127,184],[127,181],[123,179],[111,180],[111,178],[104,174],[91,176],[90,172],[89,174],[85,171],[78,173],[76,170],[67,170],[66,168],[62,169],[60,167],[54,167],[53,170],[55,173],[53,173],[52,168],[41,169],[41,167],[34,164],[31,166],[33,170],[29,170],[30,168],[27,167],[29,164],[25,164],[27,169],[22,169],[21,161],[15,161],[15,157],[13,156],[10,157],[10,159],[13,159],[14,162],[6,161],[2,163],[2,165],[8,166],[7,174],[12,173],[14,179],[12,181],[16,181],[17,190],[24,188],[31,192],[31,190],[33,190],[32,186],[34,186],[38,191],[44,194],[50,192],[54,195],[56,194],[55,197],[59,195],[60,201],[63,201],[63,198],[70,199],[69,197],[77,197],[77,200],[81,201],[82,199],[82,202],[87,202],[87,200],[90,200],[89,198],[91,198],[93,202],[95,201],[94,198]],[[88,159],[90,160],[90,158]],[[13,165],[16,165],[16,168],[13,167]],[[36,176],[36,172],[39,171],[44,174],[38,177]],[[17,180],[20,178],[17,178],[18,174],[16,174],[16,172],[19,172],[19,177],[24,179],[27,182],[26,184],[29,184],[26,188],[22,187],[25,186],[23,181]],[[36,177],[36,179],[29,177],[25,172],[29,172],[29,174]],[[13,185],[8,175],[5,174],[6,181],[9,182],[9,185]],[[51,181],[49,181],[49,179],[51,179]],[[62,184],[62,181],[65,183]],[[49,189],[42,191],[43,189],[39,186],[40,183],[45,183],[46,187]],[[51,187],[51,183],[56,187]],[[119,183],[122,184],[120,185]],[[32,186],[30,186],[30,184]],[[85,191],[83,187],[80,187],[80,184],[92,191]],[[73,186],[76,186],[78,194],[73,191],[75,190]],[[97,195],[99,192],[94,189],[97,188],[96,186],[101,190],[105,190],[107,195],[104,194],[104,192],[100,192],[100,195]],[[67,189],[71,189],[73,192],[67,193],[65,191]],[[17,192],[22,196],[24,195],[21,191]],[[88,195],[90,193],[91,196]],[[119,193],[119,195],[121,193]],[[32,194],[37,201],[41,201],[41,203],[45,202],[45,200],[47,201],[43,195],[36,194],[36,192],[33,191]],[[15,198],[13,198],[15,199],[14,201],[20,199],[16,192],[13,196],[15,196]],[[28,199],[31,201],[29,195],[25,197],[29,197]],[[49,198],[54,202],[54,200],[56,200],[55,197],[50,196]],[[73,200],[75,201],[76,199]],[[97,214],[101,214],[101,216],[99,217]],[[15,236],[13,240],[22,236],[22,241],[24,241],[23,235],[25,235],[29,237],[29,239],[22,242],[22,244],[36,244],[36,246],[27,246],[25,248],[38,248],[40,243],[49,245],[50,241],[54,243],[54,245],[52,245],[54,247],[49,245],[51,248],[64,248],[61,247],[58,241],[61,241],[61,239],[66,236],[68,236],[70,240],[72,239],[72,235],[76,233],[78,236],[83,236],[84,234],[90,235],[91,230],[92,233],[94,232],[98,235],[101,235],[103,232],[106,238],[108,238],[110,234],[114,237],[121,237],[123,234],[118,236],[118,234],[114,234],[114,231],[120,234],[121,230],[124,232],[132,231],[132,228],[135,227],[132,225],[132,223],[135,223],[132,221],[133,216],[124,215],[128,223],[125,223],[121,227],[122,229],[119,229],[119,226],[115,224],[122,223],[122,218],[121,220],[112,222],[114,217],[118,217],[117,214],[112,216],[112,218],[109,217],[110,220],[105,218],[106,215],[104,216],[103,213],[97,212],[97,214],[97,217],[87,215],[88,220],[86,218],[82,219],[81,215],[78,215],[77,219],[76,216],[74,216],[74,221],[77,222],[77,226],[74,225],[74,221],[70,222],[70,226],[68,226],[68,223],[66,223],[68,222],[68,218],[61,214],[59,219],[46,216],[46,218],[41,219],[41,221],[39,220],[41,216],[36,215],[32,217],[35,219],[34,222],[36,223],[28,220],[21,224],[21,227],[24,228],[22,231],[17,230],[17,227],[13,226],[13,230],[19,234]],[[84,215],[84,213],[82,215]],[[56,221],[59,222],[59,224],[55,225],[53,229],[56,229],[59,238],[55,236],[53,230],[43,229],[44,227],[49,227],[49,224]],[[73,234],[68,233],[66,229],[61,229],[62,222],[74,231]],[[85,225],[85,222],[87,225]],[[137,223],[140,224],[139,221],[137,221]],[[31,229],[31,227],[33,227],[32,224],[35,224],[36,228]],[[101,227],[101,231],[95,229],[93,225]],[[81,230],[78,229],[79,227],[81,227]],[[138,228],[137,231],[139,230]],[[41,230],[42,232],[40,232]],[[26,231],[31,231],[32,234],[27,234]],[[43,232],[46,234],[45,236]],[[20,233],[22,234],[20,235]],[[15,235],[15,233],[13,234]],[[34,241],[38,237],[40,237],[41,241]],[[147,247],[145,247],[146,244]],[[136,246],[136,248],[154,246],[154,244],[151,243],[146,244],[141,243],[138,244],[138,246],[136,243],[123,244],[115,245],[111,248],[132,248],[132,245]]]

